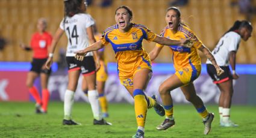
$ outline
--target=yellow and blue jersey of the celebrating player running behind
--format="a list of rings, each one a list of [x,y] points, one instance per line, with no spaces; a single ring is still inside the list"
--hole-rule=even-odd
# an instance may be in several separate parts
[[[189,38],[190,36],[195,36],[195,33],[192,32],[189,28],[184,25],[178,27],[178,32],[175,34],[169,29],[169,26],[166,26],[161,32],[162,37],[167,37],[172,40],[183,40],[184,38]],[[197,49],[201,47],[202,41],[197,39],[192,47],[183,47],[183,46],[169,46],[171,52],[173,53],[173,64],[175,70],[180,70],[181,68],[187,66],[201,66],[201,59],[198,55]],[[163,47],[160,44],[157,44],[158,47]]]

